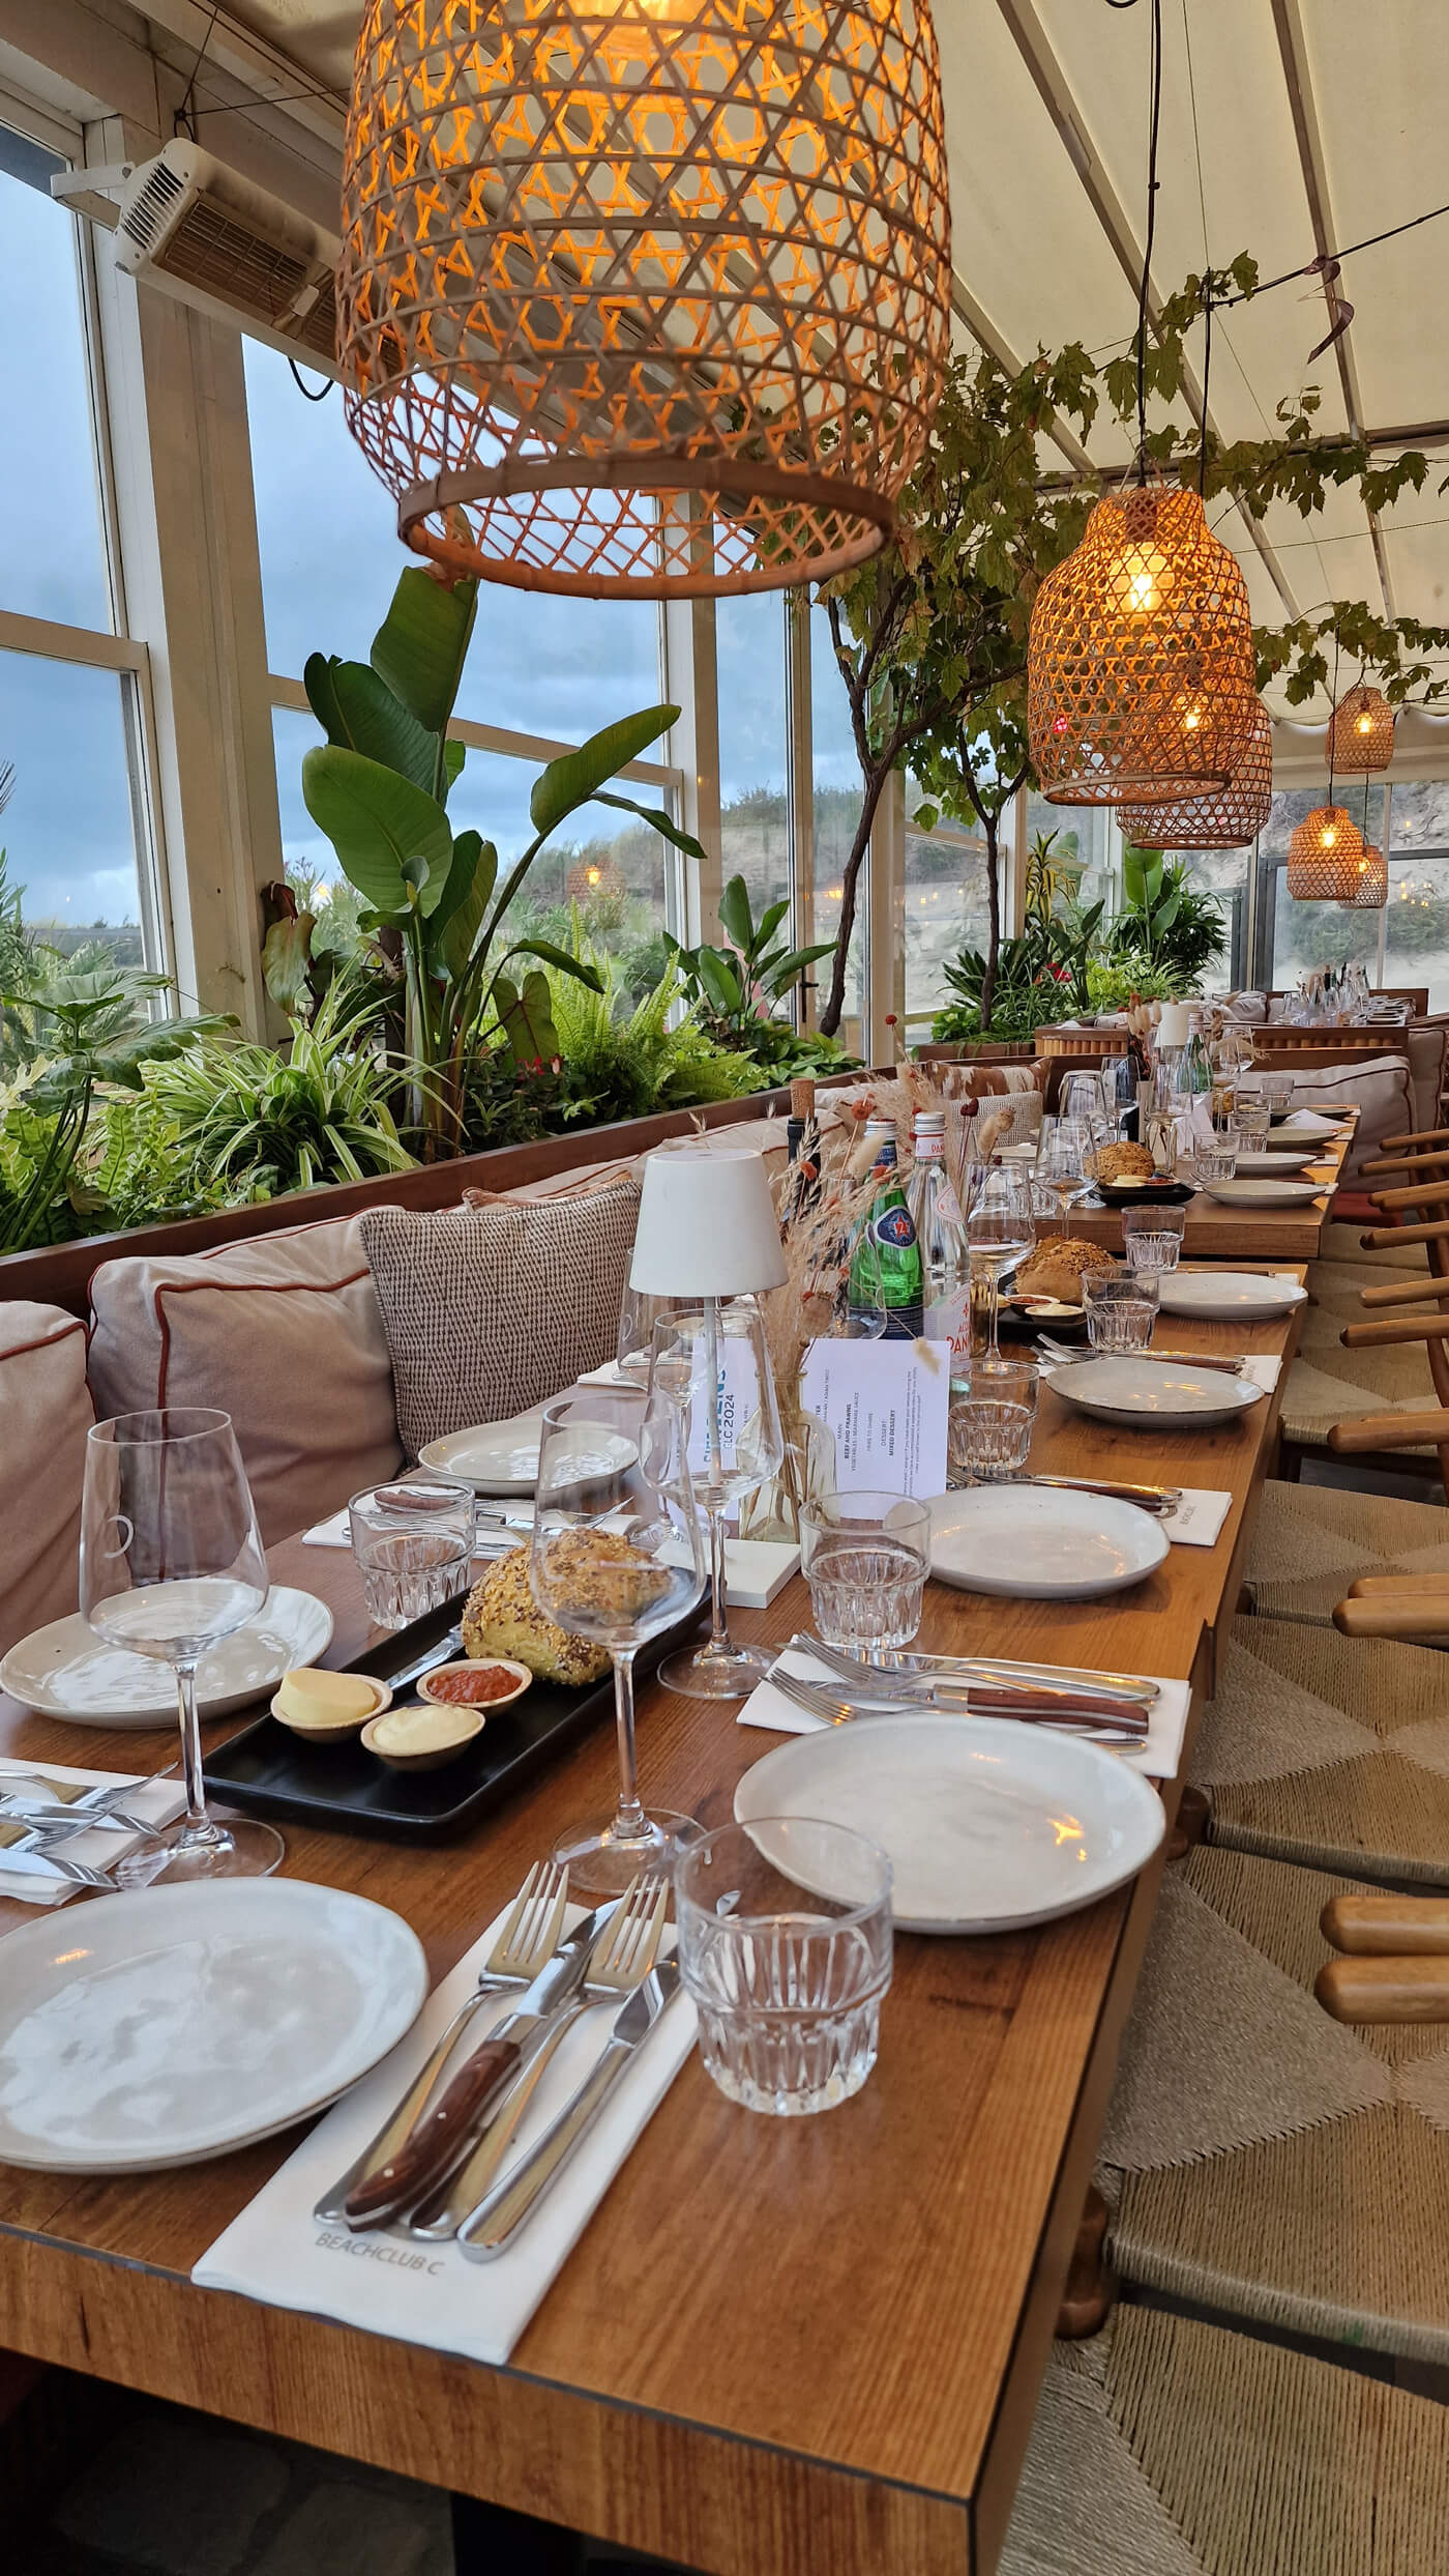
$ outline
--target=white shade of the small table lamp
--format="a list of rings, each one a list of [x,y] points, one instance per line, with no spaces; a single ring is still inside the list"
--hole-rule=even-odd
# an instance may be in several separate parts
[[[759,1154],[649,1154],[628,1285],[646,1296],[752,1296],[785,1285]]]

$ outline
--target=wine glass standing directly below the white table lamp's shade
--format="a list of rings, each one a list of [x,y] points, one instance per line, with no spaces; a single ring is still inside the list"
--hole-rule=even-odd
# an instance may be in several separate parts
[[[736,1646],[726,1625],[726,1512],[757,1494],[785,1463],[775,1373],[764,1321],[752,1296],[705,1298],[692,1314],[654,1327],[654,1376],[685,1412],[695,1502],[710,1530],[710,1641],[679,1649],[659,1667],[667,1690],[695,1700],[741,1700],[764,1680],[775,1656]]]

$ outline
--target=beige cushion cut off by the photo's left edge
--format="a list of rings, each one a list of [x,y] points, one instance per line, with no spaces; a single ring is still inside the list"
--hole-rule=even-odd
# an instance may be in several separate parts
[[[0,1654],[75,1610],[85,1435],[85,1324],[59,1306],[0,1306]]]

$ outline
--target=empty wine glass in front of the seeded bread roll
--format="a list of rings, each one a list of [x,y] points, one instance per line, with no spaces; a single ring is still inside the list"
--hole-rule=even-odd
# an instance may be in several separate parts
[[[697,1834],[692,1816],[643,1811],[633,1757],[633,1656],[705,1589],[685,1417],[661,1388],[577,1386],[543,1406],[528,1582],[546,1618],[613,1656],[618,1806],[564,1834],[553,1857],[574,1888],[620,1896]]]

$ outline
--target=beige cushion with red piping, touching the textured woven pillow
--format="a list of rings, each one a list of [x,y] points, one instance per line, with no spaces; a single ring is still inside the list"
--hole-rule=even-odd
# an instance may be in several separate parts
[[[358,1226],[345,1216],[185,1260],[103,1262],[90,1283],[95,1412],[219,1404],[268,1546],[401,1458]]]

